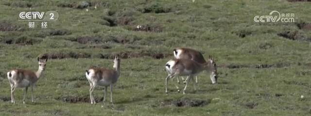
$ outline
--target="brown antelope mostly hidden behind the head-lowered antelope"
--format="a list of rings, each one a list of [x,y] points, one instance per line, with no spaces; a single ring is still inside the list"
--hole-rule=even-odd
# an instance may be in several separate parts
[[[176,59],[180,59],[180,58],[185,58],[185,59],[191,59],[194,60],[198,63],[206,63],[205,58],[203,57],[202,53],[199,51],[196,51],[194,49],[190,49],[190,48],[176,48],[173,50],[173,54],[174,57]],[[186,83],[184,77],[181,77],[182,80],[184,81],[184,83]],[[215,84],[217,83],[217,81],[213,81],[213,79],[211,78],[212,83]],[[177,77],[177,83],[179,83],[179,79]],[[195,83],[198,83],[198,76],[195,76]]]

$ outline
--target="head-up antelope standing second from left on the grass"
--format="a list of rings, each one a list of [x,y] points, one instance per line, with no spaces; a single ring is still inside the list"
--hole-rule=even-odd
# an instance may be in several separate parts
[[[112,103],[112,87],[118,81],[120,76],[120,58],[118,56],[114,59],[113,68],[114,70],[109,70],[105,68],[90,68],[86,70],[86,78],[89,82],[89,96],[91,104],[96,104],[93,96],[94,87],[97,85],[104,86],[104,100],[106,99],[107,87],[110,86],[110,103]]]

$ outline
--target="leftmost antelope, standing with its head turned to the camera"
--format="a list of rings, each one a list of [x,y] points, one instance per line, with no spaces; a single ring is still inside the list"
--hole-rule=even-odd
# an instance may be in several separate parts
[[[27,95],[28,87],[31,87],[31,102],[34,102],[34,86],[38,79],[42,76],[43,71],[45,70],[46,62],[48,58],[37,58],[39,68],[37,72],[33,72],[30,70],[23,69],[14,69],[7,73],[8,80],[11,86],[11,102],[15,104],[14,92],[16,88],[23,88],[24,90],[24,98],[23,103],[25,104],[25,98]]]

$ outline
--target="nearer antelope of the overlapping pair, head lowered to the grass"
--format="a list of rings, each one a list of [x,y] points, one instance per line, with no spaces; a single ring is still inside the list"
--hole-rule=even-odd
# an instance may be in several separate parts
[[[167,92],[168,80],[170,78],[173,78],[174,76],[188,76],[186,78],[186,85],[183,94],[185,94],[190,79],[193,81],[194,90],[196,90],[196,83],[194,83],[193,76],[196,76],[202,71],[211,72],[210,78],[212,79],[213,83],[216,83],[217,82],[216,63],[214,62],[212,57],[209,57],[208,60],[209,60],[208,62],[205,62],[203,64],[198,63],[191,59],[183,59],[183,58],[169,60],[165,65],[166,71],[169,73],[169,75],[165,79],[165,93],[168,93]],[[179,92],[178,86],[176,86],[176,88],[177,91]]]

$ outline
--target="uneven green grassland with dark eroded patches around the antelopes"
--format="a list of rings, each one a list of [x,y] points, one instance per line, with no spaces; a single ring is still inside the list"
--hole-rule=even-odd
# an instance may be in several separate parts
[[[296,22],[254,22],[274,10]],[[29,29],[18,21],[23,11],[57,11],[59,19]],[[310,116],[310,11],[311,2],[287,0],[0,0],[0,116]],[[177,93],[170,81],[165,94],[164,64],[180,46],[212,55],[219,84],[202,73],[198,91],[190,83]],[[12,104],[6,72],[37,70],[40,54],[51,59],[35,102],[29,92],[22,104],[19,88]],[[115,105],[91,105],[84,71],[112,68],[116,54]],[[100,100],[103,87],[94,95]]]

